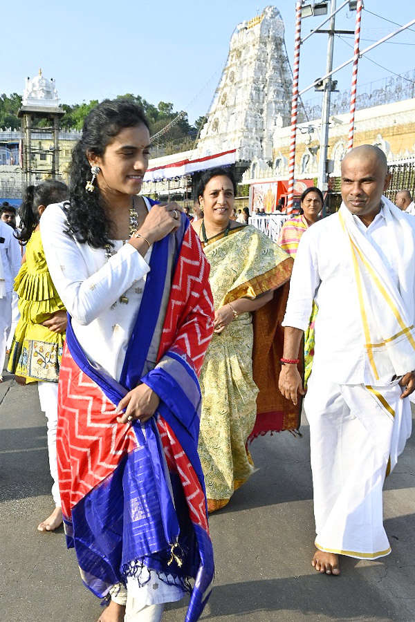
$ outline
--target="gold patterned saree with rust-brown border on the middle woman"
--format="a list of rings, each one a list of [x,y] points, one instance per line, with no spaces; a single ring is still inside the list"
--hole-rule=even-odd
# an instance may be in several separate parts
[[[240,314],[223,332],[214,334],[205,356],[200,377],[203,401],[199,455],[208,509],[214,511],[228,503],[234,490],[246,482],[253,471],[246,448],[248,437],[266,431],[293,429],[298,424],[297,408],[291,422],[284,420],[282,424],[280,415],[288,405],[277,387],[282,350],[275,361],[273,348],[277,325],[284,315],[293,259],[250,225],[231,229],[228,236],[221,234],[211,238],[204,250],[210,262],[215,310],[241,297],[255,299],[259,294],[279,288],[273,301],[255,312],[254,326],[251,313]],[[284,283],[286,288],[281,287]],[[279,310],[281,307],[284,308]],[[279,343],[282,346],[282,329]],[[252,359],[257,373],[262,376],[258,382],[255,374],[252,378]],[[269,383],[270,379],[273,386],[264,386],[264,381]],[[257,402],[258,384],[261,393]],[[280,405],[281,400],[287,402],[284,407]],[[257,403],[261,404],[258,412],[270,416],[255,432]],[[275,423],[273,414],[277,411],[279,422]]]

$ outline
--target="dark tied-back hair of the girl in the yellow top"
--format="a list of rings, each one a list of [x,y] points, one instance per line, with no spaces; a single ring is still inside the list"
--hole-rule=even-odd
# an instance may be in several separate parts
[[[69,191],[64,182],[55,179],[46,180],[37,186],[26,187],[23,201],[19,207],[20,227],[19,242],[27,244],[30,236],[39,224],[39,205],[47,207],[51,203],[59,203],[68,199]]]

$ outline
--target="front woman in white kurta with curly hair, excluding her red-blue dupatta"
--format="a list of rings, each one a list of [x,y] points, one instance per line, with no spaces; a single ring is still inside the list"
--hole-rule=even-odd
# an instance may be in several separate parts
[[[180,217],[174,203],[149,209],[149,202],[137,196],[149,147],[148,123],[137,106],[102,102],[87,117],[74,149],[70,205],[50,205],[41,223],[50,274],[75,336],[89,361],[116,380],[140,308],[152,245],[174,231]],[[89,194],[85,187],[92,166],[99,171]],[[119,423],[145,422],[158,406],[158,396],[145,384],[127,397]],[[128,597],[115,586],[99,622],[121,622],[124,614],[129,621],[159,621],[163,603],[178,600],[183,592],[160,581],[156,590],[152,572],[143,587],[129,580]]]

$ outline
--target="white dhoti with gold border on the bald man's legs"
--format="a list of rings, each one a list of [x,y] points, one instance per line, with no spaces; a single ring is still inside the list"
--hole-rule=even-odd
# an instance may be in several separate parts
[[[340,385],[313,368],[304,410],[310,424],[315,545],[376,559],[391,552],[382,487],[411,433],[409,399],[398,384]]]

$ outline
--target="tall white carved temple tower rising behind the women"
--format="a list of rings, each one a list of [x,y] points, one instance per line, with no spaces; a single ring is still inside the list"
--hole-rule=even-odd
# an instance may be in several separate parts
[[[292,84],[284,22],[275,6],[267,6],[232,35],[195,157],[237,149],[237,160],[273,160],[275,125],[290,122]]]

